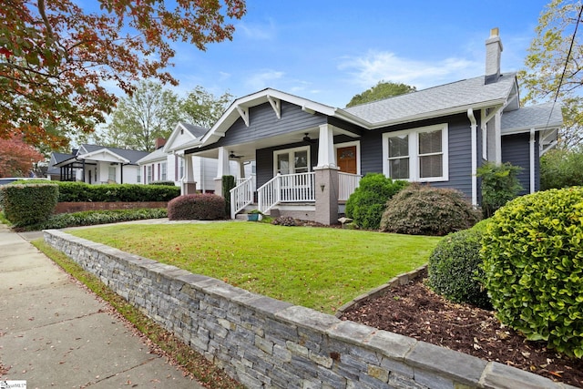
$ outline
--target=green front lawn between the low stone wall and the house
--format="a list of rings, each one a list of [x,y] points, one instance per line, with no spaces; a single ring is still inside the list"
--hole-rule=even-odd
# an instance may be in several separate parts
[[[250,222],[126,224],[67,232],[329,313],[426,263],[440,240]]]

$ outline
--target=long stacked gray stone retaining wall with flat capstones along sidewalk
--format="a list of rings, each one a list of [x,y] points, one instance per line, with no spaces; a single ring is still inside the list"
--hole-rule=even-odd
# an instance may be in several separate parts
[[[48,244],[249,388],[565,388],[59,230]]]

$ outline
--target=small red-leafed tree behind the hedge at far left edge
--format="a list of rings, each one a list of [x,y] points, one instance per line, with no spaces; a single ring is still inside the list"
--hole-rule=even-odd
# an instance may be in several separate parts
[[[0,138],[0,177],[28,177],[34,164],[45,159],[21,139]]]

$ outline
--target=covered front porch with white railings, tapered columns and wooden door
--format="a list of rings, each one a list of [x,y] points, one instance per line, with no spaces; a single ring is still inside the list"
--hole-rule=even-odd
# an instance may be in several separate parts
[[[230,163],[238,162],[239,179],[230,190],[231,219],[257,209],[272,216],[335,224],[361,178],[358,138],[343,128],[322,124],[270,138],[193,150],[193,155],[218,160],[215,193],[221,193],[222,177],[229,174]],[[245,165],[252,162],[255,169],[249,174]]]

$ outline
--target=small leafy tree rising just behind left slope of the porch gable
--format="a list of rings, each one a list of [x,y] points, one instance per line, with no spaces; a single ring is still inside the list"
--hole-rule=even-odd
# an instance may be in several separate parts
[[[181,110],[185,120],[203,128],[211,128],[223,114],[233,96],[225,92],[215,97],[204,87],[195,87],[182,101]]]

